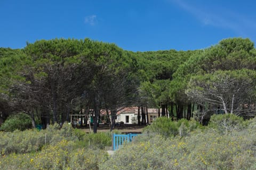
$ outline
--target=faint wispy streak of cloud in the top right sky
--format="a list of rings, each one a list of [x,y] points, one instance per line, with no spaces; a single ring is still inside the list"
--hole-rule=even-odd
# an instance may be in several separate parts
[[[224,10],[221,7],[205,8],[200,4],[189,4],[184,0],[170,0],[170,2],[193,15],[202,24],[229,29],[238,36],[249,36],[250,32],[256,29],[255,21],[235,11]]]

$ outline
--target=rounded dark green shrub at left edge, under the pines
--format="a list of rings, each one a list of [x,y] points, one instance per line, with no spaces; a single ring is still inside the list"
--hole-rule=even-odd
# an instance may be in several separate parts
[[[10,115],[1,125],[0,130],[6,132],[13,132],[15,130],[26,130],[32,127],[31,119],[29,115],[25,113],[19,113]]]

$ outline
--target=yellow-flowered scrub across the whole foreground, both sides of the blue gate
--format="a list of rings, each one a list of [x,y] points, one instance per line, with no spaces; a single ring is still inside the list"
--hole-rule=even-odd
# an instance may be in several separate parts
[[[215,120],[221,122],[218,116]],[[108,133],[83,134],[74,132],[68,125],[63,130],[53,130],[58,127],[51,126],[47,130],[47,133],[52,132],[47,145],[39,145],[37,139],[44,138],[46,131],[27,131],[24,141],[31,141],[30,144],[22,141],[23,132],[1,132],[0,169],[256,169],[256,118],[244,122],[238,118],[238,122],[236,126],[240,128],[217,133],[219,126],[202,130],[196,128],[193,121],[182,120],[175,124],[179,127],[177,135],[166,137],[146,131],[111,156],[93,147],[108,146]],[[32,138],[35,134],[38,137]],[[9,144],[7,137],[20,140],[17,145],[21,148]],[[79,143],[82,141],[84,143]]]

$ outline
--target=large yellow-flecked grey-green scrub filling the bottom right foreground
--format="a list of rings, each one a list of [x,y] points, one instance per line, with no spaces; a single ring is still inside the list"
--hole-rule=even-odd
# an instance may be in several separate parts
[[[256,124],[256,119],[251,123]],[[185,123],[181,123],[185,124]],[[249,125],[250,127],[250,125]],[[196,130],[180,138],[141,135],[115,152],[100,169],[255,169],[254,129]]]

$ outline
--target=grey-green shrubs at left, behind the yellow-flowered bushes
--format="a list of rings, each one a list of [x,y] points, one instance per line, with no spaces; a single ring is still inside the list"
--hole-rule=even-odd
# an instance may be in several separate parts
[[[64,123],[61,129],[55,124],[41,131],[30,129],[0,132],[0,155],[36,152],[41,150],[45,144],[56,146],[62,140],[78,141],[74,129],[67,123]]]

